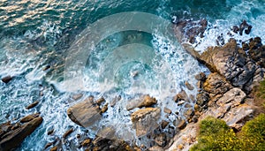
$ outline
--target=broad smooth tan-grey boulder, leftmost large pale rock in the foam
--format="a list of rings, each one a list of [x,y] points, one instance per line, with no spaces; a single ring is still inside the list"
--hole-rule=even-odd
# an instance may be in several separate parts
[[[67,109],[67,115],[72,122],[83,127],[94,125],[102,117],[98,105],[94,104],[89,97]]]

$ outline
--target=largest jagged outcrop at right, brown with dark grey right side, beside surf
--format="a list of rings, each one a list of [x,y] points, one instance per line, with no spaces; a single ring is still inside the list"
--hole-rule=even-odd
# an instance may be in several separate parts
[[[235,40],[223,47],[209,48],[201,54],[200,60],[211,72],[218,72],[235,87],[242,87],[253,77],[256,66],[246,59]]]

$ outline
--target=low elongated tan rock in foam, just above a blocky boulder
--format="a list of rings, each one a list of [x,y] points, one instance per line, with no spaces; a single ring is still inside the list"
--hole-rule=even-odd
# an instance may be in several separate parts
[[[155,100],[155,98],[150,97],[149,95],[143,95],[139,99],[130,100],[126,105],[126,109],[131,110],[134,108],[151,107],[156,103],[157,101]]]

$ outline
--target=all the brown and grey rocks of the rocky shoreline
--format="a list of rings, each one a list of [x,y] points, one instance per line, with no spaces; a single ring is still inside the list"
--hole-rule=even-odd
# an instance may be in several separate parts
[[[259,37],[242,42],[242,47],[232,38],[230,42],[224,44],[220,36],[216,40],[219,46],[210,47],[199,54],[191,44],[195,42],[196,36],[203,36],[207,25],[206,19],[182,20],[175,25],[179,42],[211,72],[209,75],[200,73],[194,77],[198,80],[197,86],[191,86],[186,81],[188,89],[198,88],[197,96],[187,96],[186,92],[182,91],[173,98],[178,105],[182,105],[196,97],[194,107],[186,104],[190,108],[185,112],[186,119],[176,119],[174,122],[176,128],[171,127],[168,121],[157,123],[161,112],[168,116],[178,113],[172,113],[167,108],[162,109],[156,106],[155,98],[142,95],[137,101],[128,104],[126,109],[139,108],[131,114],[133,128],[138,137],[148,137],[149,140],[153,140],[152,147],[137,147],[132,142],[119,140],[114,134],[115,128],[111,127],[104,128],[95,138],[78,133],[71,141],[78,141],[79,146],[72,145],[72,147],[84,150],[188,150],[196,143],[198,122],[208,116],[223,119],[234,131],[239,132],[246,121],[255,116],[256,110],[261,108],[255,106],[251,93],[253,88],[264,79],[265,45],[262,45]],[[252,26],[243,21],[240,26],[233,26],[231,32],[249,34],[251,28]],[[11,79],[7,76],[2,81],[8,83]],[[75,101],[80,101],[81,98],[82,94],[72,96]],[[67,115],[79,126],[95,125],[108,107],[115,105],[115,102],[118,102],[118,98],[109,104],[104,98],[95,100],[93,96],[89,96],[67,109]],[[27,109],[34,108],[38,103],[30,104]],[[36,113],[22,117],[19,122],[9,121],[0,125],[0,150],[19,147],[19,144],[42,124],[42,120],[40,114]],[[68,142],[67,138],[74,131],[74,128],[65,130],[63,136],[48,142],[43,150],[64,150],[64,144],[73,144]],[[55,130],[52,129],[47,132],[47,135],[52,135],[54,132]]]

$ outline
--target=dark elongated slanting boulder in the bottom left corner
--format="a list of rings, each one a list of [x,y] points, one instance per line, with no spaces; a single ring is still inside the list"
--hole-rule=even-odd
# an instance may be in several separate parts
[[[28,135],[34,132],[34,130],[42,124],[42,120],[42,117],[35,117],[15,130],[5,132],[0,139],[0,150],[11,150],[18,147]]]

